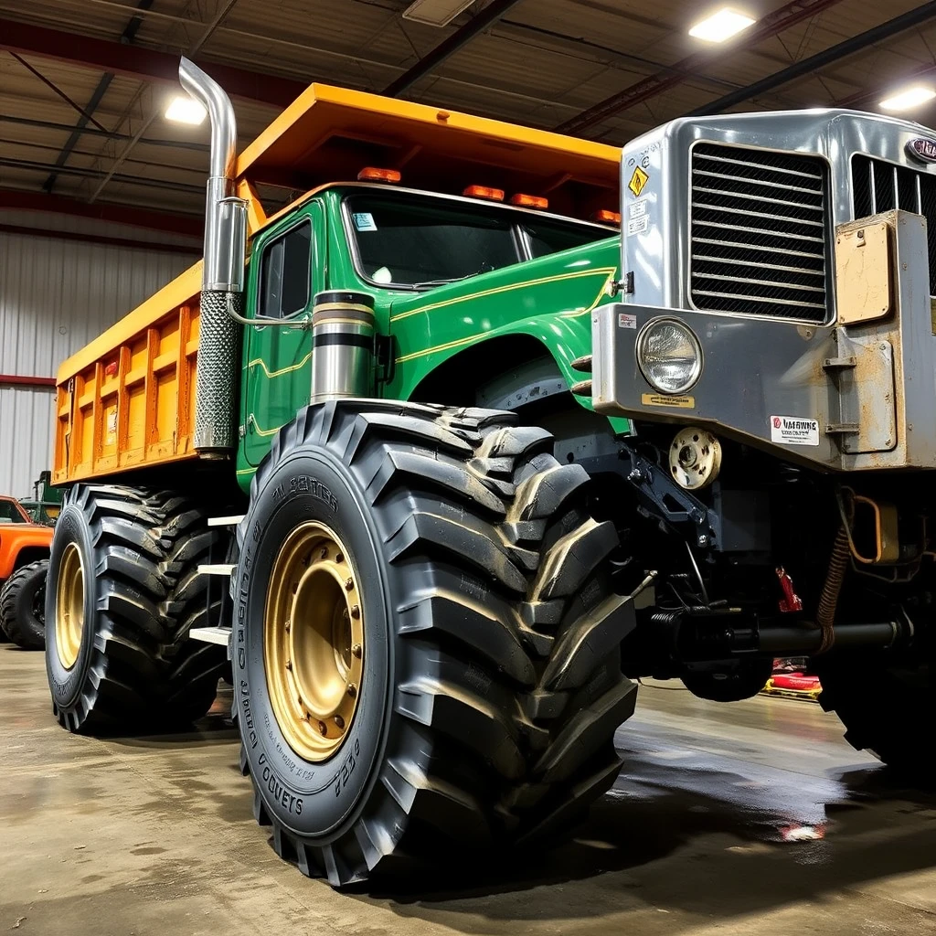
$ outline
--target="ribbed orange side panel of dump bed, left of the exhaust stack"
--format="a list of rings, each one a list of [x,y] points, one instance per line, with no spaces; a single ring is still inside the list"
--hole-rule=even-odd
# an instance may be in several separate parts
[[[197,280],[183,273],[167,298],[193,282],[187,299],[168,311],[149,300],[62,366],[54,483],[196,457]]]

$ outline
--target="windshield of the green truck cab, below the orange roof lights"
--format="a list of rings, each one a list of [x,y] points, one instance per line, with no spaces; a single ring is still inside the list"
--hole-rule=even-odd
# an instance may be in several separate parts
[[[428,288],[601,241],[613,232],[451,198],[365,190],[345,198],[360,272]]]

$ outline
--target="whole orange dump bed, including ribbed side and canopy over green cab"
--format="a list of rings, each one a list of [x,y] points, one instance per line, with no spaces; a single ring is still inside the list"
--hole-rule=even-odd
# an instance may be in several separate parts
[[[257,184],[305,191],[354,181],[373,165],[408,187],[468,184],[548,195],[586,216],[618,203],[616,147],[409,101],[313,84],[241,154],[238,192],[250,234],[269,220]],[[206,166],[207,172],[207,166]],[[59,369],[56,484],[195,458],[197,264]]]

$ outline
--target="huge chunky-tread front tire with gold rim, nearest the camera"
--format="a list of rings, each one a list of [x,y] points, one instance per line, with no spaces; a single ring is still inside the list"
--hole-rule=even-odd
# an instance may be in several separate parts
[[[633,712],[609,523],[548,432],[496,410],[311,406],[238,537],[241,767],[280,856],[335,886],[548,841],[621,767]]]

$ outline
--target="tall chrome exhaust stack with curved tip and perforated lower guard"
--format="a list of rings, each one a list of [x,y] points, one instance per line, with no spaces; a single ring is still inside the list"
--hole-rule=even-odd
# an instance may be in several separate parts
[[[247,211],[234,191],[237,121],[230,98],[197,65],[183,58],[179,80],[208,111],[212,124],[211,175],[205,197],[204,266],[198,336],[195,448],[223,458],[237,446],[237,374],[240,332],[231,312],[243,314]]]

